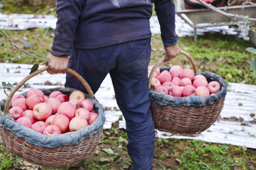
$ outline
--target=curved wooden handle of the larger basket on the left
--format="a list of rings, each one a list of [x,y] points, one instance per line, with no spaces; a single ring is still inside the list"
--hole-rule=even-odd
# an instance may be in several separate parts
[[[48,66],[45,66],[45,67],[40,68],[40,69],[34,71],[33,73],[27,75],[23,80],[21,80],[21,82],[19,82],[18,85],[16,85],[16,86],[11,90],[11,92],[10,92],[10,94],[9,94],[9,97],[7,98],[7,100],[6,100],[6,102],[5,102],[3,115],[5,115],[5,114],[8,112],[8,110],[9,110],[10,99],[13,97],[14,93],[16,93],[16,92],[18,91],[18,89],[19,89],[22,85],[24,85],[24,84],[27,82],[27,80],[29,80],[29,79],[32,78],[33,76],[36,76],[36,75],[38,75],[38,74],[40,74],[40,73],[46,71],[47,69],[48,69]],[[70,73],[70,74],[72,74],[73,76],[75,76],[78,80],[80,80],[81,83],[82,83],[82,85],[83,85],[83,86],[85,87],[85,89],[87,90],[87,92],[88,92],[90,98],[94,98],[94,94],[93,94],[93,92],[92,92],[92,90],[91,90],[90,85],[85,81],[85,79],[84,79],[81,75],[79,75],[76,71],[74,71],[74,70],[71,69],[71,68],[68,68],[68,69],[67,69],[67,72]]]

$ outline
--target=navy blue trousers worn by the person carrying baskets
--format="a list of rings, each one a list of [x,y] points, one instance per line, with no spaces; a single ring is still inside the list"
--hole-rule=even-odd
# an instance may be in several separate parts
[[[73,48],[69,59],[69,68],[84,77],[93,93],[110,73],[117,103],[126,120],[131,170],[152,170],[154,158],[155,126],[147,89],[150,54],[150,39],[145,39],[99,49]],[[69,73],[65,86],[86,93],[80,81]]]

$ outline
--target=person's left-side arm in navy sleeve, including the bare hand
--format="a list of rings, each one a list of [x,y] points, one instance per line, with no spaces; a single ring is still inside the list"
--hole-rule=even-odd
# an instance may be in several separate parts
[[[84,0],[56,0],[57,23],[51,52],[46,56],[50,61],[47,72],[65,73],[68,56],[72,49],[75,31],[82,12]]]

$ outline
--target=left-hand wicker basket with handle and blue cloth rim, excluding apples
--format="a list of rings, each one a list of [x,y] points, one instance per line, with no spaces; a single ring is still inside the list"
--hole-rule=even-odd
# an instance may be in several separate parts
[[[37,75],[47,68],[37,70]],[[75,76],[74,73],[70,70]],[[33,73],[32,73],[33,74]],[[33,76],[34,76],[33,75]],[[32,76],[29,76],[29,78]],[[81,77],[80,77],[81,78]],[[27,81],[27,78],[26,78]],[[21,81],[24,84],[26,81]],[[87,82],[81,80],[85,85]],[[21,85],[17,85],[10,93],[10,98],[18,90]],[[99,144],[103,124],[105,122],[104,108],[94,97],[90,86],[85,87],[89,94],[85,94],[86,98],[91,100],[94,110],[99,114],[97,119],[88,127],[83,127],[75,132],[68,132],[61,135],[46,136],[39,132],[25,127],[17,123],[10,115],[9,98],[0,101],[0,136],[3,140],[7,151],[11,155],[17,155],[25,161],[43,166],[50,169],[67,168],[81,162],[93,152]],[[54,91],[60,91],[69,96],[73,91],[77,90],[69,87],[57,87],[53,89],[40,89],[45,95],[49,96]],[[23,93],[26,97],[27,93]]]

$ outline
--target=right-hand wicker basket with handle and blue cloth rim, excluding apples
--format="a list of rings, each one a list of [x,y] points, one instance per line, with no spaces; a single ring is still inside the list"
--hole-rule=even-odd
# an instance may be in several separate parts
[[[197,73],[196,64],[191,56],[184,51],[181,51],[181,54],[190,60],[194,72],[206,76],[208,82],[214,80],[212,77],[218,77],[216,81],[219,83],[221,81],[221,90],[215,95],[207,97],[173,97],[168,94],[155,93],[151,88],[151,79],[155,69],[164,61],[164,55],[155,64],[148,78],[148,89],[151,99],[150,109],[156,129],[176,135],[191,136],[203,132],[219,118],[227,93],[227,84],[223,78],[215,73]],[[165,104],[161,103],[162,101]]]

